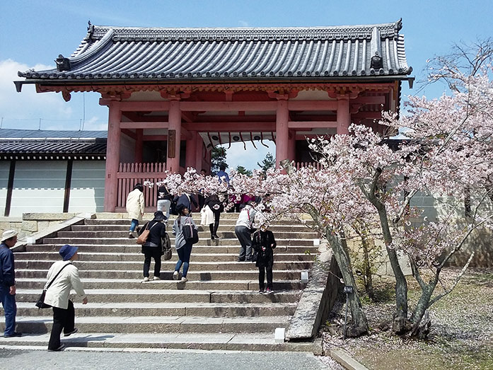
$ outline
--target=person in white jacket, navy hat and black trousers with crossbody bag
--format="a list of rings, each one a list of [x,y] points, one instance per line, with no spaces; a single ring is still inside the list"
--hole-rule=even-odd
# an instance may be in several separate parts
[[[45,295],[45,303],[53,308],[53,326],[50,342],[48,342],[48,351],[62,351],[65,348],[60,343],[62,330],[65,337],[77,333],[77,328],[74,326],[74,303],[69,299],[71,289],[74,289],[76,294],[82,298],[82,304],[87,304],[86,293],[84,293],[79,278],[79,270],[72,265],[72,261],[79,258],[77,249],[78,247],[72,245],[64,245],[59,250],[63,260],[54,262],[48,270],[45,287],[54,279]]]

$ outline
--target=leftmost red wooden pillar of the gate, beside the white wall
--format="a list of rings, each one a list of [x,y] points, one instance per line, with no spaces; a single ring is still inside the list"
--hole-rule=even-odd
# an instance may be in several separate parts
[[[108,140],[106,144],[105,212],[115,212],[117,205],[117,171],[120,164],[120,121],[122,110],[120,102],[112,101],[108,106]]]

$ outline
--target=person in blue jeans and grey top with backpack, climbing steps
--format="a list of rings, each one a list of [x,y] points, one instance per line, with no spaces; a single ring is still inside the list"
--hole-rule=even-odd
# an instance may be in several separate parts
[[[178,217],[173,224],[173,235],[175,236],[175,249],[178,253],[178,262],[173,272],[173,280],[178,280],[180,268],[183,266],[181,282],[187,282],[188,266],[190,265],[190,255],[192,254],[192,241],[185,238],[183,229],[188,227],[197,230],[197,225],[190,216],[190,212],[185,204],[178,204]]]

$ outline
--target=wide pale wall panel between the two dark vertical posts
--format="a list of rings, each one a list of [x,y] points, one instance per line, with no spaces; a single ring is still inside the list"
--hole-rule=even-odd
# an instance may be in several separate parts
[[[66,161],[18,161],[10,216],[63,212]]]

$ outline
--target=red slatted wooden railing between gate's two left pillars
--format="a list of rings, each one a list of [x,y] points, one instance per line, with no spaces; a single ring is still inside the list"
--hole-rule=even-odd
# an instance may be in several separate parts
[[[166,163],[120,163],[117,172],[117,208],[124,208],[127,195],[134,189],[135,184],[144,183],[145,180],[156,183],[166,176]],[[156,208],[158,187],[144,186],[144,200],[146,207]]]

